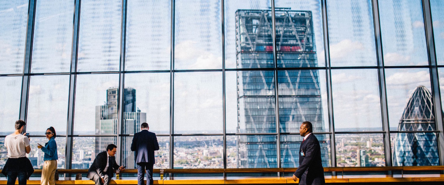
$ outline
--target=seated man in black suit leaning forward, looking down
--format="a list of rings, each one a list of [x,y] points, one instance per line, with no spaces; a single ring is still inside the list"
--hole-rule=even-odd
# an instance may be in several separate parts
[[[110,179],[113,177],[114,170],[125,170],[123,166],[117,165],[115,162],[115,153],[117,146],[109,144],[107,150],[100,152],[92,162],[86,177],[95,181],[95,185],[109,185]]]

